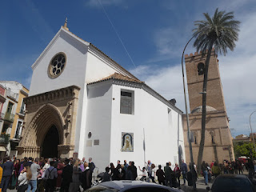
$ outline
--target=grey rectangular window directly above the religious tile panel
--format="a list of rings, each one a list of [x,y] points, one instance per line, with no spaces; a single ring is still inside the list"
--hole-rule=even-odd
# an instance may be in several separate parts
[[[120,113],[121,114],[132,114],[133,113],[132,93],[126,92],[126,91],[121,91]]]

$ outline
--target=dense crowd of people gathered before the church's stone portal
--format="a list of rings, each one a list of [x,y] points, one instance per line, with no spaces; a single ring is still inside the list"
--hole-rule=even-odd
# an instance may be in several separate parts
[[[3,158],[0,182],[3,192],[7,188],[18,192],[81,191],[90,188],[95,165],[92,158]]]

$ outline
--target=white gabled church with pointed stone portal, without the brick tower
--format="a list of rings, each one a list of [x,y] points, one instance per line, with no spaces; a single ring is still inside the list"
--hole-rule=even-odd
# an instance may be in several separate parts
[[[32,65],[23,157],[144,166],[185,159],[182,111],[64,26]]]

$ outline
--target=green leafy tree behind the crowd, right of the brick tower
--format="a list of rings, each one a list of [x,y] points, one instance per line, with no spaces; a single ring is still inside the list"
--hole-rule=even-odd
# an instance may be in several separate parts
[[[250,157],[252,154],[253,158],[256,158],[256,152],[254,150],[254,143],[251,142],[239,142],[234,144],[234,156],[236,158],[240,156]]]

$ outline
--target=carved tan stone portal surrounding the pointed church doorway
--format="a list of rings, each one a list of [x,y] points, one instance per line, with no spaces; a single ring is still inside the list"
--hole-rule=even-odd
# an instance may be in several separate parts
[[[40,157],[42,142],[52,125],[59,134],[58,156],[72,157],[79,90],[78,86],[68,86],[24,99],[26,116],[17,147],[18,158]]]

